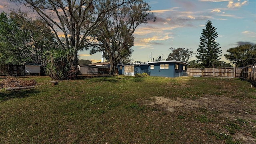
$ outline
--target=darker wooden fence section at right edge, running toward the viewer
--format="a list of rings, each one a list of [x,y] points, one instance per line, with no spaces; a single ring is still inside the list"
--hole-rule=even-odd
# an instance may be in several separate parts
[[[243,68],[240,77],[256,85],[256,65]]]

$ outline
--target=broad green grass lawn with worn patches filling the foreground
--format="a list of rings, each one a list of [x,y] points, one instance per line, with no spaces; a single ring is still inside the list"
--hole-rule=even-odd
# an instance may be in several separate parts
[[[256,89],[240,79],[23,79],[36,88],[0,90],[1,144],[256,143]]]

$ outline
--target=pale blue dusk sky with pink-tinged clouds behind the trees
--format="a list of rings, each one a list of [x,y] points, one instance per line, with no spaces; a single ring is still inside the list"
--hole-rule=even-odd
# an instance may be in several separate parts
[[[147,0],[146,0],[147,1]],[[227,61],[226,50],[242,44],[256,44],[256,0],[148,0],[156,22],[140,25],[134,33],[132,49],[134,61],[150,61],[170,54],[169,48],[188,48],[195,54],[202,30],[208,20],[218,32],[216,42],[222,50],[221,60]],[[0,0],[0,12],[8,12],[14,6],[8,0]],[[101,61],[101,53],[90,55],[79,52],[80,58]]]

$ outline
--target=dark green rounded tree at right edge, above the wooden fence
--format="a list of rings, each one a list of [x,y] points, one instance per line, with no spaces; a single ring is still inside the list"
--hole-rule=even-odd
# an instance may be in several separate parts
[[[230,60],[236,66],[248,66],[256,64],[256,44],[244,44],[227,50],[225,54],[227,60]]]

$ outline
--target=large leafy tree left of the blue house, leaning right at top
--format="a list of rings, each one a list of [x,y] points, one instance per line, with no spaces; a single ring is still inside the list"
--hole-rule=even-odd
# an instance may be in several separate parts
[[[104,7],[101,5],[100,7]],[[131,0],[106,14],[106,20],[92,30],[88,45],[91,53],[102,51],[110,62],[110,75],[115,74],[117,64],[129,58],[133,52],[133,33],[140,24],[152,19],[150,6],[144,0]]]

